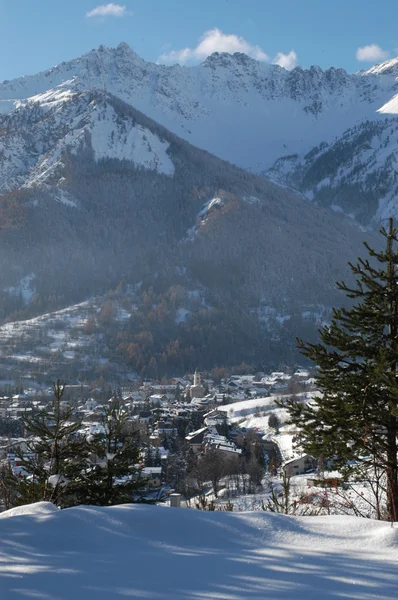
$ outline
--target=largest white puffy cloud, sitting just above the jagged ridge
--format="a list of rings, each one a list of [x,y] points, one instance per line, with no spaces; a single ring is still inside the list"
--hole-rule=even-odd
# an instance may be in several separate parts
[[[257,60],[269,60],[266,53],[260,48],[250,44],[243,37],[235,34],[223,33],[215,27],[205,31],[195,48],[182,48],[181,50],[171,50],[168,53],[159,56],[158,61],[164,63],[185,64],[188,61],[203,60],[213,52],[243,52]]]

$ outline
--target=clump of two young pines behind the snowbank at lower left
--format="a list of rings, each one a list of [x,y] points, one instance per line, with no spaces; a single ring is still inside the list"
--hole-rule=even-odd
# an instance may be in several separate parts
[[[116,397],[102,419],[103,433],[86,436],[75,411],[63,402],[65,387],[53,386],[51,407],[24,419],[26,447],[20,475],[8,473],[9,505],[49,501],[61,508],[133,502],[139,478],[137,435]]]

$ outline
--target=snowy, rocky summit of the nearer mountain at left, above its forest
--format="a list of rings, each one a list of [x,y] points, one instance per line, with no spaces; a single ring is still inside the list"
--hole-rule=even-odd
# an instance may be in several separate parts
[[[121,118],[98,93],[37,95],[32,103],[0,116],[0,131],[0,192],[53,183],[65,166],[64,154],[84,148],[97,161],[129,160],[138,168],[174,174],[169,144],[134,119]],[[74,205],[65,195],[58,196]]]

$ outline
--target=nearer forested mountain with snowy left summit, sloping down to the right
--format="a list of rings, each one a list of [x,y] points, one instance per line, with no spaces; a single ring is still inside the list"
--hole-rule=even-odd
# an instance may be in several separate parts
[[[255,356],[261,323],[313,318],[341,300],[334,282],[360,252],[358,226],[191,146],[107,92],[48,93],[0,116],[0,131],[3,316],[143,282],[139,302],[155,287],[155,316],[142,309],[135,327],[162,331],[160,356],[187,315],[202,311],[230,347],[221,360],[235,362],[247,349]],[[170,294],[160,296],[170,286],[184,289],[172,308]]]

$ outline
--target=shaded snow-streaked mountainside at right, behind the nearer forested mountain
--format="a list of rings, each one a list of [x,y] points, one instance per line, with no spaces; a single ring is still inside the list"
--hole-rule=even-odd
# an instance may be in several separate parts
[[[398,215],[397,137],[397,118],[365,121],[305,156],[279,159],[269,175],[321,206],[378,227]]]

